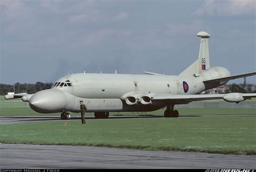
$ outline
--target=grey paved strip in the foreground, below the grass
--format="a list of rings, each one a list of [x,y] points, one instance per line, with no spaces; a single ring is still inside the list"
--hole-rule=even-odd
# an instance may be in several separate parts
[[[256,156],[0,143],[1,168],[251,168]]]

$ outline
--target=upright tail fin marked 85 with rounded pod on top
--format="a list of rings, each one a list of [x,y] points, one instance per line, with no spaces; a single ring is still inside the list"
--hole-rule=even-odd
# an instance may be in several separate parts
[[[201,73],[204,70],[207,70],[210,68],[210,57],[209,57],[209,48],[208,48],[208,38],[210,38],[210,34],[204,31],[197,33],[198,37],[201,37],[200,42],[200,50],[199,50],[199,56],[196,61],[189,67],[187,67],[183,72],[181,72],[179,75],[184,76],[191,76],[191,75],[197,75]]]

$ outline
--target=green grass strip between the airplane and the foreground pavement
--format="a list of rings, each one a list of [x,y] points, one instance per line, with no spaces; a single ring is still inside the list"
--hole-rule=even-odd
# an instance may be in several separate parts
[[[255,117],[47,121],[0,125],[0,142],[256,154]],[[66,125],[65,125],[66,123]]]

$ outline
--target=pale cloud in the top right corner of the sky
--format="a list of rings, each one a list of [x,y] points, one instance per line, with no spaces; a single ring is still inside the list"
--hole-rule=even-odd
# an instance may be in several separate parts
[[[226,0],[214,1],[205,0],[203,5],[196,11],[199,16],[237,16],[237,15],[255,15],[254,0]]]

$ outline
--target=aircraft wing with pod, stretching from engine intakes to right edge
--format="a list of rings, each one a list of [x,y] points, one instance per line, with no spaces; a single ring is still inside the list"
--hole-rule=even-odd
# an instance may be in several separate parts
[[[228,93],[228,94],[156,94],[151,96],[151,100],[166,100],[173,104],[183,104],[191,101],[203,100],[225,100],[228,102],[240,102],[247,99],[256,98],[256,93]]]

